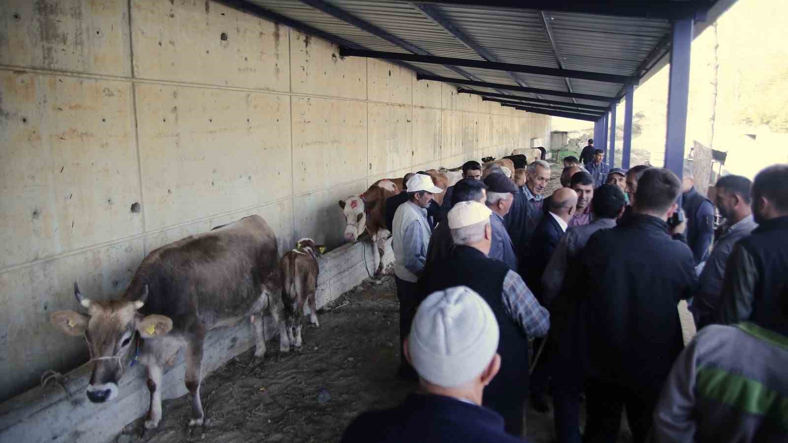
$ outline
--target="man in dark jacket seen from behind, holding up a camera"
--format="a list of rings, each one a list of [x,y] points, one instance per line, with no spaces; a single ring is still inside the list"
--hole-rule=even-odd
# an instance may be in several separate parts
[[[657,396],[682,351],[679,300],[697,289],[692,251],[668,220],[681,182],[667,169],[646,169],[632,213],[594,233],[580,254],[588,341],[585,441],[615,441],[626,405],[633,441],[645,441]]]

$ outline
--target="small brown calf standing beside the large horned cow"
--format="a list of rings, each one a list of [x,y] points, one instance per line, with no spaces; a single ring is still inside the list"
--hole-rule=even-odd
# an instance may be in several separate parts
[[[310,322],[320,326],[318,308],[314,294],[318,290],[318,257],[325,251],[324,246],[314,244],[314,240],[298,240],[296,248],[282,255],[279,273],[282,276],[282,304],[284,305],[284,328],[292,346],[301,348],[301,326],[303,325],[303,306],[309,306]]]

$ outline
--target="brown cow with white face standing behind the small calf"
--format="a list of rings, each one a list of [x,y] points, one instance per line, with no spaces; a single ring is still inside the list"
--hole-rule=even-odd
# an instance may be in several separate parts
[[[391,232],[386,227],[386,199],[399,194],[400,189],[401,178],[385,178],[376,181],[361,195],[351,195],[339,201],[345,217],[344,239],[349,242],[356,241],[366,232],[375,244],[375,274],[383,270],[381,257],[385,251],[385,242],[391,237]]]

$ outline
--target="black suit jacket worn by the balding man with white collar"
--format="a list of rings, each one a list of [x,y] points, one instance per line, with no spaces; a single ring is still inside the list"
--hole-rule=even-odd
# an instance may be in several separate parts
[[[556,250],[559,240],[563,236],[563,229],[556,218],[545,214],[541,219],[537,229],[533,231],[530,247],[528,248],[528,258],[520,266],[520,275],[526,281],[528,288],[537,296],[539,303],[543,303],[541,295],[541,276],[545,274],[545,267],[552,256],[552,251]]]

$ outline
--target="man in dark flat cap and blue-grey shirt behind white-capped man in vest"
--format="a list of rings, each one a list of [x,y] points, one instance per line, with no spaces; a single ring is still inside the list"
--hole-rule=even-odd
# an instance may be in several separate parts
[[[492,211],[490,216],[492,245],[487,256],[490,259],[506,263],[506,266],[509,266],[511,270],[517,270],[517,255],[515,255],[515,247],[511,243],[511,237],[509,237],[506,226],[504,226],[504,216],[509,213],[511,202],[514,201],[515,194],[519,192],[519,189],[514,181],[511,181],[502,173],[490,174],[485,178],[485,184],[487,185],[487,199],[485,203],[489,210]]]

